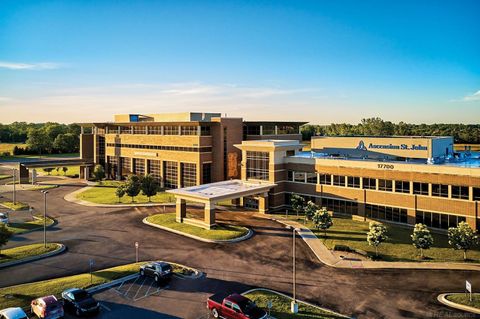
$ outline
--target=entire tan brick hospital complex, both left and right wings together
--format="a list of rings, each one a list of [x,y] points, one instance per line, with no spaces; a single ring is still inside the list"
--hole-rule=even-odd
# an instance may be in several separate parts
[[[303,124],[219,113],[117,115],[111,123],[81,125],[81,156],[104,165],[110,178],[152,174],[170,189],[230,179],[263,183],[268,192],[260,187],[239,201],[261,211],[288,209],[299,194],[358,218],[479,228],[479,154],[455,152],[452,137],[313,137],[304,152]],[[235,198],[234,188],[228,197]]]

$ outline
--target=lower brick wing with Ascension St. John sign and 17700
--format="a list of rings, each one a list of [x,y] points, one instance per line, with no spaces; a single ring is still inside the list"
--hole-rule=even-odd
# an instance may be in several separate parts
[[[264,180],[270,210],[299,194],[335,213],[447,229],[480,225],[479,154],[454,152],[451,137],[314,137],[244,141],[242,179]]]

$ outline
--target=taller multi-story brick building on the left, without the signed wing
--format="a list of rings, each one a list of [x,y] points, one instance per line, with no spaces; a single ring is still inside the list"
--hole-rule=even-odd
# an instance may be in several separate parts
[[[80,153],[111,179],[151,174],[180,188],[240,177],[242,140],[301,140],[304,122],[246,122],[220,113],[115,115],[114,122],[80,124]],[[89,175],[90,166],[81,170]],[[86,174],[86,175],[85,175]]]

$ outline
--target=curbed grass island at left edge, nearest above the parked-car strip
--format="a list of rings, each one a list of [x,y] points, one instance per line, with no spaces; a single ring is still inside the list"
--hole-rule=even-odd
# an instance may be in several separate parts
[[[65,251],[62,244],[48,243],[18,246],[0,251],[0,268],[11,267],[47,257],[58,255]]]

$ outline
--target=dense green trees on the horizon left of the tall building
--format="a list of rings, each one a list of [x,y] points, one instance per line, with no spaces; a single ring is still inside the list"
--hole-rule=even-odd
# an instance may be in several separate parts
[[[80,148],[80,126],[76,124],[14,122],[0,124],[1,143],[26,143],[15,146],[13,155],[76,153]],[[6,155],[6,154],[5,154]]]

